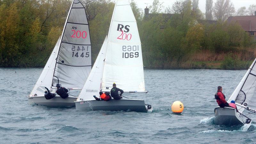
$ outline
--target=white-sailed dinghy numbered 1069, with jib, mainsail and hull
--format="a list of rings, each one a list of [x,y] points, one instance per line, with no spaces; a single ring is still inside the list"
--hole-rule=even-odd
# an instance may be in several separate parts
[[[100,53],[76,100],[77,110],[151,112],[144,100],[120,99],[97,101],[93,95],[110,92],[113,83],[124,92],[145,91],[140,36],[135,17],[127,0],[117,0]],[[110,89],[109,89],[110,88]]]

